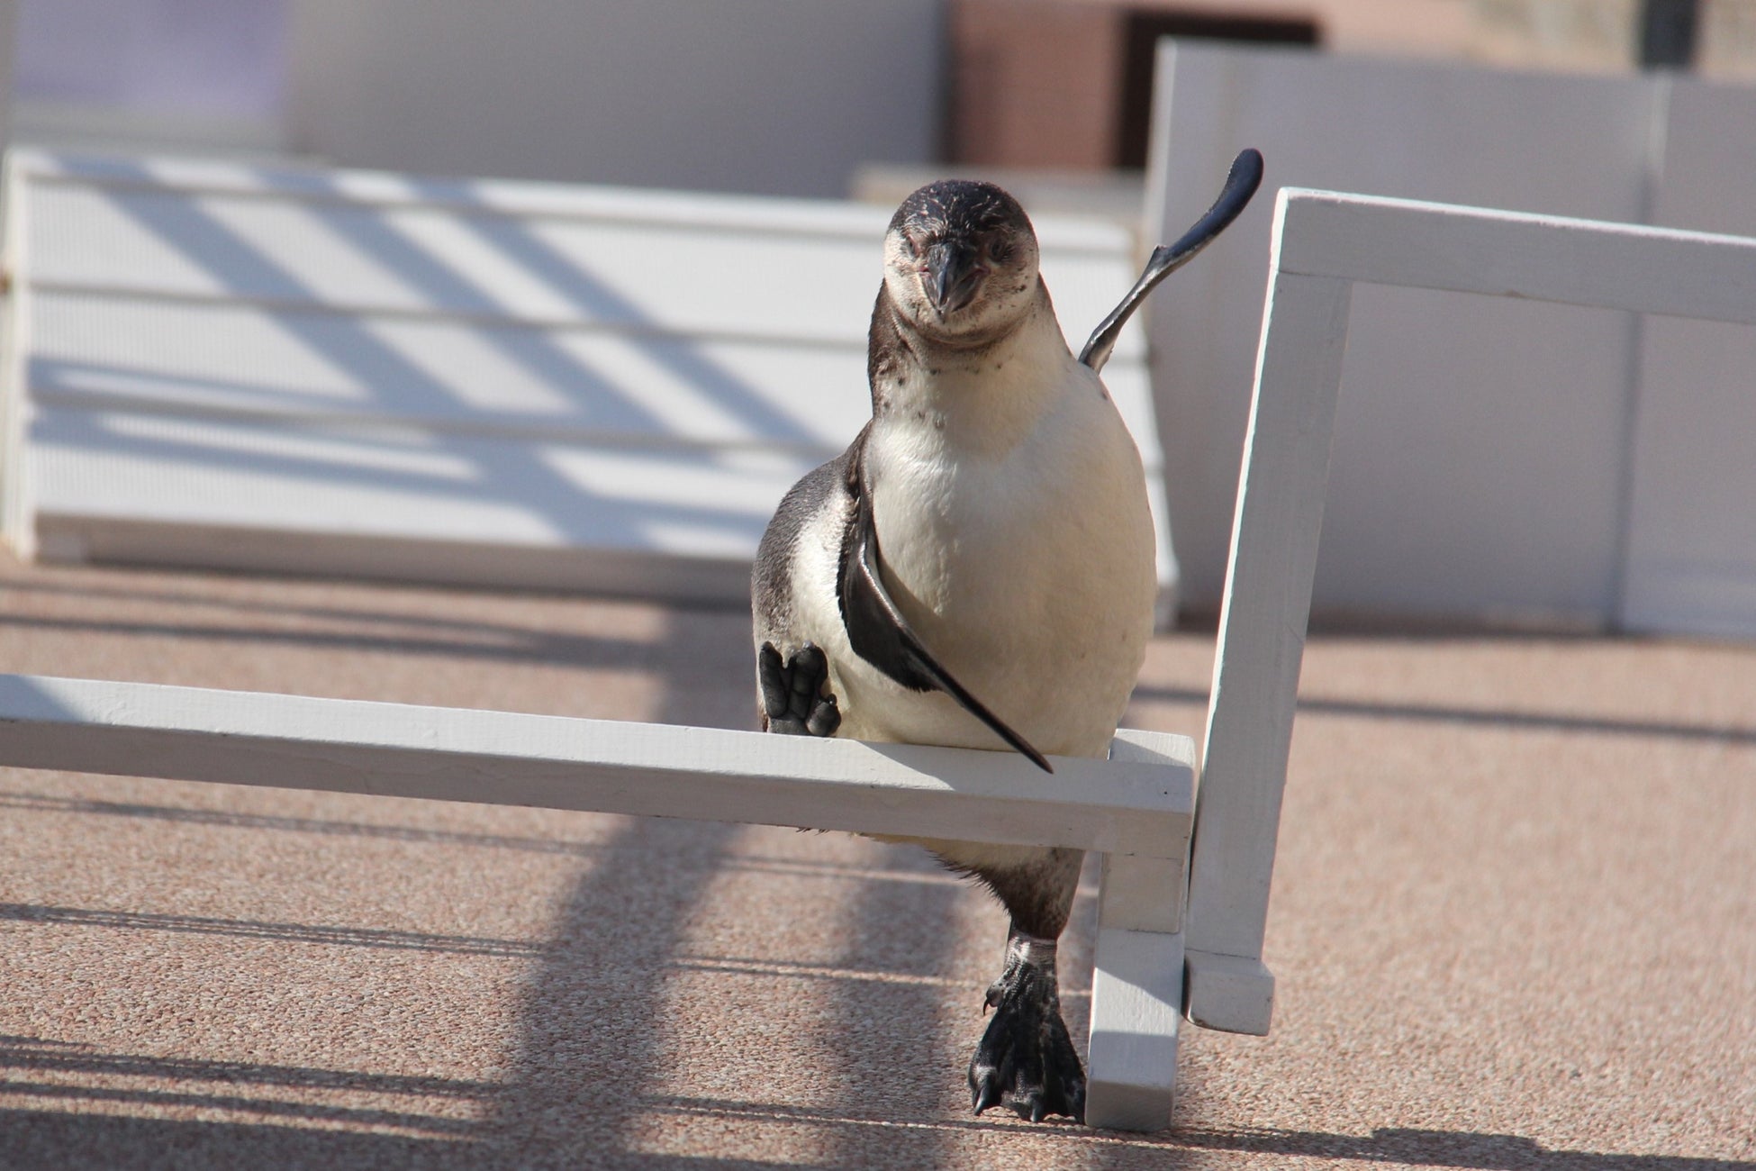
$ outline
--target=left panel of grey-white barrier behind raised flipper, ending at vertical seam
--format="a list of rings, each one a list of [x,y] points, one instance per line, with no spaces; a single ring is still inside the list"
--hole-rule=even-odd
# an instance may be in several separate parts
[[[1266,158],[1252,207],[1152,302],[1171,532],[1201,606],[1224,583],[1275,190],[1638,221],[1658,95],[1631,75],[1168,42],[1157,104],[1164,239],[1238,147]],[[1357,288],[1313,607],[1610,621],[1633,356],[1628,314]]]

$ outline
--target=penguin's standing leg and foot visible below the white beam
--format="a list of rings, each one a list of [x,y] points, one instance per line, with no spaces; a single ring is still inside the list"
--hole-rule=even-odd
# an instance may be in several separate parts
[[[1061,1020],[1055,941],[1080,881],[1078,850],[1045,850],[1026,866],[976,869],[1011,915],[1006,962],[985,997],[994,1009],[969,1059],[969,1103],[980,1115],[1006,1104],[1020,1118],[1085,1120],[1085,1069]]]

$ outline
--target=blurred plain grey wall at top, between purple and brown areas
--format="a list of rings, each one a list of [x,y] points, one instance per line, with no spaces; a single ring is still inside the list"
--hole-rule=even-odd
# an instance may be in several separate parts
[[[293,0],[286,121],[330,162],[845,195],[927,162],[943,0]]]

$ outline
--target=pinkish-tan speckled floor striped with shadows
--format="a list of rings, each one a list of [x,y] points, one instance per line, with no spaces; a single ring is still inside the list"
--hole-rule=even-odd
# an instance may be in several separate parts
[[[746,623],[0,560],[21,672],[748,727]],[[969,1115],[1004,918],[910,848],[0,771],[0,1166],[1756,1171],[1756,648],[1319,636],[1301,697],[1275,1031],[1187,1029],[1157,1136]]]

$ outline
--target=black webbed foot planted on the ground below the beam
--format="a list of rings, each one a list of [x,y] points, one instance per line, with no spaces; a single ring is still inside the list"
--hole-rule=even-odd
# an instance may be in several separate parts
[[[1085,1069],[1061,1020],[1054,941],[1015,934],[987,1006],[994,1018],[969,1059],[975,1111],[1006,1104],[1031,1122],[1048,1115],[1085,1122]]]

